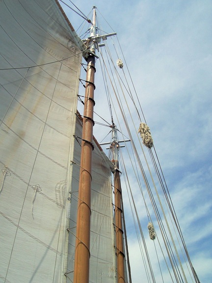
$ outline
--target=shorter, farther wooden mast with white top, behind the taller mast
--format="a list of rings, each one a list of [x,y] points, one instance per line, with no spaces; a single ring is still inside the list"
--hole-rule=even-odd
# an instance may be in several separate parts
[[[113,152],[112,162],[115,165],[114,172],[114,195],[115,195],[115,239],[116,239],[116,258],[117,258],[117,283],[125,283],[125,268],[124,268],[124,240],[122,227],[122,190],[120,182],[120,171],[118,162],[119,143],[117,138],[117,128],[112,125],[112,142],[111,150]]]

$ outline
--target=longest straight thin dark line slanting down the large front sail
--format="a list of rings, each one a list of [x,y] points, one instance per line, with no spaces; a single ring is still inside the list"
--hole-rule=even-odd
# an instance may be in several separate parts
[[[60,68],[59,68],[59,71],[58,71],[58,74],[57,74],[57,80],[56,80],[56,83],[55,83],[55,85],[54,85],[53,95],[54,95],[54,91],[55,91],[56,84],[57,84],[57,81],[58,81],[58,77],[59,77],[59,74],[60,74],[61,66],[62,66],[62,62],[61,62],[61,64],[60,64]],[[50,105],[49,105],[48,113],[47,113],[47,115],[46,115],[46,122],[47,122],[47,118],[48,118],[49,113],[50,113],[50,108],[51,108],[52,101],[53,101],[53,95],[52,95],[51,102],[50,102]],[[45,124],[46,124],[46,122],[45,122]],[[29,181],[28,181],[28,185],[27,185],[27,190],[26,190],[26,193],[25,193],[25,197],[24,197],[22,209],[21,209],[21,212],[20,212],[20,217],[19,217],[19,220],[18,220],[17,228],[16,228],[15,237],[14,237],[14,240],[13,240],[13,246],[12,246],[11,253],[10,253],[10,258],[9,258],[9,262],[8,262],[8,266],[7,266],[7,271],[6,271],[6,275],[5,275],[5,280],[6,280],[6,278],[7,278],[7,274],[8,274],[8,271],[9,271],[9,266],[10,266],[10,262],[11,262],[11,258],[12,258],[12,254],[13,254],[13,249],[14,249],[14,246],[15,246],[16,236],[17,236],[19,224],[20,224],[21,217],[22,217],[22,212],[23,212],[23,209],[24,209],[24,203],[25,203],[25,200],[26,200],[26,198],[27,198],[27,192],[28,192],[28,188],[29,188],[29,183],[30,183],[30,180],[31,180],[31,177],[32,177],[32,172],[33,172],[33,170],[34,170],[35,162],[36,162],[36,160],[37,160],[39,148],[40,148],[41,141],[42,141],[42,138],[43,138],[43,135],[44,135],[44,130],[45,130],[45,125],[44,125],[44,127],[43,127],[43,131],[42,131],[42,134],[41,134],[40,142],[39,142],[39,145],[38,145],[38,148],[37,148],[36,156],[35,156],[34,163],[33,163],[33,166],[32,166],[32,170],[31,170],[31,173],[30,173],[30,176],[29,176]]]

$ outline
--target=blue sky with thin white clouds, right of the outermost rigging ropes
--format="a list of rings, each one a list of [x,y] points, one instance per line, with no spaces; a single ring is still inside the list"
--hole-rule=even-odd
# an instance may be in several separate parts
[[[212,1],[74,3],[86,15],[96,5],[118,33],[191,261],[200,282],[211,283]],[[82,19],[66,13],[77,29]],[[104,20],[101,24],[112,32]],[[102,98],[95,100],[101,107]],[[102,139],[95,127],[94,135]],[[143,271],[135,237],[130,230],[132,281],[140,283]]]

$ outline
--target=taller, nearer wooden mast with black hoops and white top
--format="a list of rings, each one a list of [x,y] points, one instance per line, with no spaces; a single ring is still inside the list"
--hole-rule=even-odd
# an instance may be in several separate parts
[[[95,36],[95,9],[94,24],[91,32]],[[90,50],[95,53],[93,41]],[[93,108],[94,108],[94,74],[95,57],[87,59],[87,75],[85,86],[84,113],[82,126],[81,159],[79,172],[79,198],[77,213],[77,232],[75,246],[74,283],[89,282],[90,260],[90,217],[91,217],[91,161],[93,139]]]

